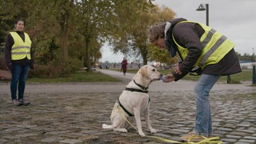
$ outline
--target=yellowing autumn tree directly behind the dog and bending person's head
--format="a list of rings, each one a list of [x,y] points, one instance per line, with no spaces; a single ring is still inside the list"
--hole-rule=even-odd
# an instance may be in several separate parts
[[[166,7],[160,9],[150,1],[120,1],[116,3],[118,23],[114,26],[114,52],[142,58],[146,65],[150,58],[147,43],[148,29],[156,22],[166,22],[174,18],[174,12]]]

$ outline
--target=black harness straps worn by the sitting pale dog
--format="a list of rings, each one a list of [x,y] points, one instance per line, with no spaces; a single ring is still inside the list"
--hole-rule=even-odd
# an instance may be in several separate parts
[[[149,87],[142,86],[142,85],[138,84],[137,82],[135,82],[135,80],[134,80],[134,83],[135,83],[138,87],[140,87],[142,90],[140,90],[140,89],[134,89],[134,88],[129,88],[129,87],[126,87],[126,90],[132,91],[132,92],[146,93],[146,94],[149,93],[149,91],[148,91],[148,88],[149,88]],[[149,98],[149,102],[150,102],[150,98]],[[133,116],[134,116],[134,114],[131,114],[128,110],[126,110],[126,108],[125,108],[124,106],[122,106],[121,102],[119,101],[119,98],[118,98],[118,100],[117,100],[117,103],[118,103],[118,106],[121,106],[121,107],[122,107],[122,110],[124,110],[124,111],[126,112],[126,114],[129,115],[129,117],[133,117]]]

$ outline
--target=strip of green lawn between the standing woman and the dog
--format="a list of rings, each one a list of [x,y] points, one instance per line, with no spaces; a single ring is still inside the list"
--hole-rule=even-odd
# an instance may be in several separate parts
[[[26,82],[121,82],[121,80],[98,72],[78,71],[68,78],[28,78]]]

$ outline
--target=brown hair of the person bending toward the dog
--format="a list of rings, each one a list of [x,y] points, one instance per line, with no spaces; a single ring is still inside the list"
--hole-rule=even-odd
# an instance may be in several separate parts
[[[161,23],[157,26],[151,27],[150,35],[149,35],[150,42],[154,42],[158,40],[158,38],[165,38],[165,27],[166,27],[166,22]]]

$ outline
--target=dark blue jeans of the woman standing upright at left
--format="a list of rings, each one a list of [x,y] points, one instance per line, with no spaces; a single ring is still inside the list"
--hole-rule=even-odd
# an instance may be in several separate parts
[[[30,66],[18,66],[14,65],[13,70],[11,70],[11,81],[10,81],[10,94],[11,99],[17,98],[17,86],[18,86],[18,99],[24,97],[24,90],[26,86],[26,76],[29,72]]]

